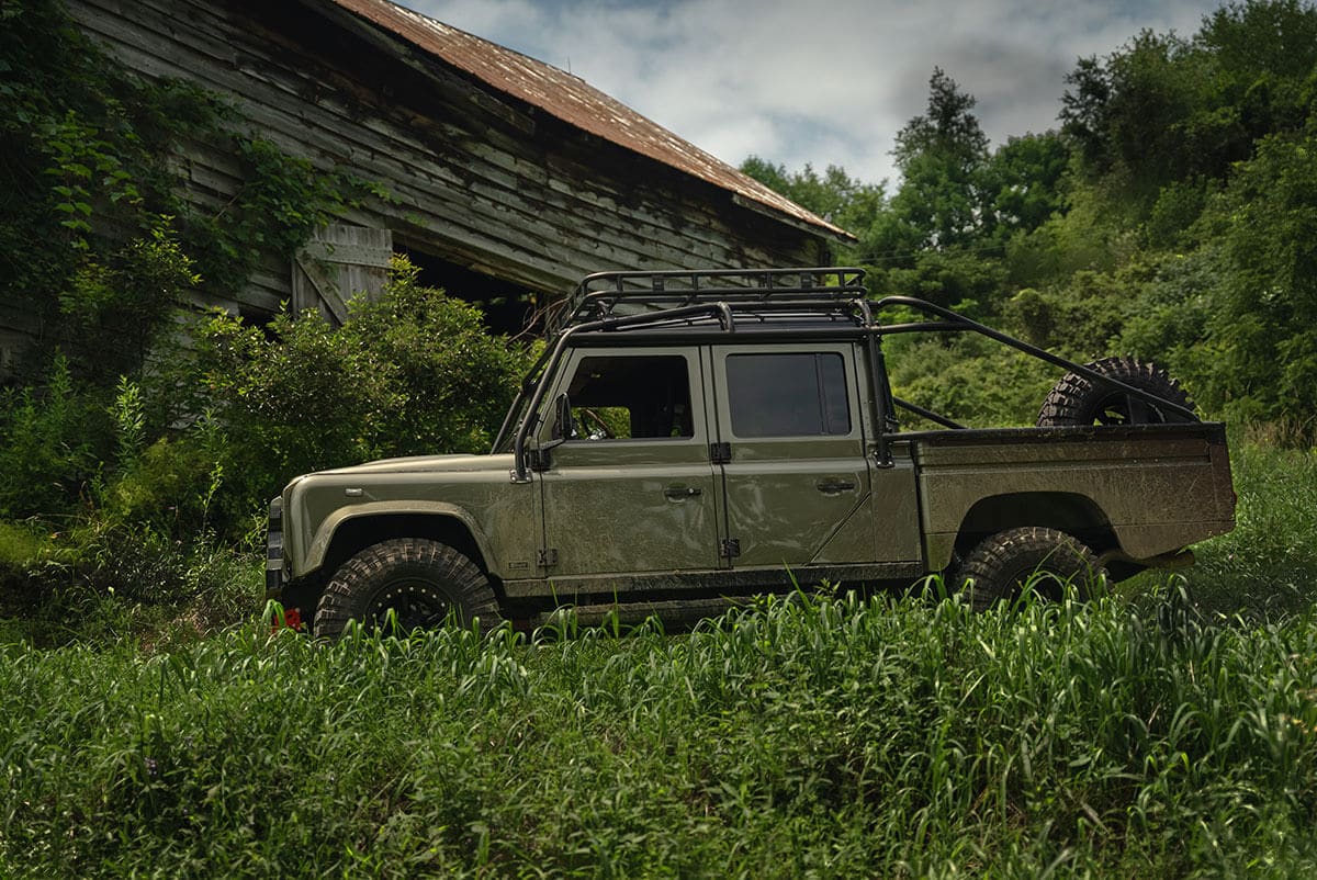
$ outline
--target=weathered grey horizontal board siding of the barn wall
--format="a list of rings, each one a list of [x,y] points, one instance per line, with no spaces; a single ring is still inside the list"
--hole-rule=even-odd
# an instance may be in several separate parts
[[[132,69],[232,95],[254,132],[398,204],[342,221],[544,292],[601,269],[814,265],[819,234],[568,125],[319,0],[68,0]],[[180,169],[219,209],[241,169],[196,144]],[[291,295],[271,254],[237,306]],[[461,291],[454,291],[461,292]]]

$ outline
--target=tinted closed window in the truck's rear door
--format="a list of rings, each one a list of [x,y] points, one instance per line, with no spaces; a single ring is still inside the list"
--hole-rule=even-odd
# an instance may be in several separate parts
[[[738,437],[851,433],[846,364],[835,352],[728,354],[727,394]]]

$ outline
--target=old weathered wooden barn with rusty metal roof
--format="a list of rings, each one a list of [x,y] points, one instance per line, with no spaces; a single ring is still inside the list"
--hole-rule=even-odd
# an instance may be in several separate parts
[[[217,303],[244,315],[291,299],[341,319],[391,252],[481,299],[561,294],[602,269],[819,265],[848,237],[585,80],[387,0],[67,8],[130,69],[228,95],[261,137],[395,198],[345,212],[291,263],[269,254]],[[202,206],[241,182],[203,145],[182,166]]]

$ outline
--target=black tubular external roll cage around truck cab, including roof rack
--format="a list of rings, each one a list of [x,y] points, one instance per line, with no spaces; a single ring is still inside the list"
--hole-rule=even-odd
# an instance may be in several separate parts
[[[907,308],[936,320],[881,323],[881,315],[894,308]],[[531,414],[539,412],[547,382],[562,353],[581,335],[649,331],[680,340],[694,339],[694,331],[712,328],[720,333],[740,329],[759,335],[763,331],[790,333],[819,332],[820,323],[834,327],[830,332],[864,339],[873,381],[874,424],[877,426],[877,464],[892,465],[892,441],[900,435],[897,408],[954,431],[965,426],[893,397],[882,358],[882,337],[900,333],[977,333],[1023,352],[1030,357],[1063,368],[1084,378],[1117,389],[1129,397],[1154,404],[1189,420],[1197,415],[1173,400],[1143,389],[1102,375],[1088,366],[1030,345],[1008,333],[971,320],[950,308],[915,296],[884,296],[871,300],[864,286],[864,270],[851,266],[815,266],[807,269],[709,270],[709,271],[603,271],[587,275],[562,302],[548,321],[548,345],[522,379],[516,400],[508,408],[491,452],[512,437],[512,480],[529,480],[525,444],[532,424]],[[827,324],[822,329],[827,331]],[[649,333],[647,333],[649,336]],[[515,429],[515,432],[514,432]]]

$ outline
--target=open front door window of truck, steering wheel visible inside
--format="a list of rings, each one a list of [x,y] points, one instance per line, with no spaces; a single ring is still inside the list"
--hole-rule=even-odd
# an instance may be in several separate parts
[[[583,357],[568,398],[578,439],[695,433],[686,358],[678,354]]]

